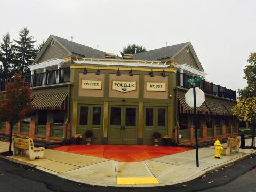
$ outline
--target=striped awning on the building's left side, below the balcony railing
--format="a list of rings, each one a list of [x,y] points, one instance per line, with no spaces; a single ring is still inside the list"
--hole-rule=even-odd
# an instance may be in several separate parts
[[[66,110],[67,92],[35,94],[31,101],[34,110]]]

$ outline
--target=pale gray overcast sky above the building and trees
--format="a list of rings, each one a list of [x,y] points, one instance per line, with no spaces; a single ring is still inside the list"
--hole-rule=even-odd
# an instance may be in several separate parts
[[[119,54],[127,44],[147,50],[190,41],[208,81],[246,86],[243,69],[256,52],[256,1],[0,1],[0,35],[22,27],[41,43],[50,34]]]

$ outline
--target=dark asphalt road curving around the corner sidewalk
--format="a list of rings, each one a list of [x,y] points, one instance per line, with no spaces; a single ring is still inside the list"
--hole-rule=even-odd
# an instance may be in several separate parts
[[[178,185],[124,188],[83,185],[58,178],[41,171],[6,162],[0,158],[0,192],[13,191],[256,191],[256,158],[246,158],[241,162],[223,167],[202,178]]]

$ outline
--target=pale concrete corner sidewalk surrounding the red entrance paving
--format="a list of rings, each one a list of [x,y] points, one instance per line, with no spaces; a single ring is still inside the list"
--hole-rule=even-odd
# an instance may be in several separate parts
[[[246,145],[250,145],[250,142],[251,139],[246,139]],[[0,142],[0,151],[7,150],[8,145],[9,143]],[[10,156],[9,159],[28,163],[35,169],[61,178],[90,185],[142,187],[173,185],[193,180],[255,152],[252,149],[240,149],[239,154],[231,153],[230,156],[216,159],[214,146],[200,148],[198,168],[195,150],[131,163],[49,149],[46,149],[44,159],[30,161],[28,156]]]

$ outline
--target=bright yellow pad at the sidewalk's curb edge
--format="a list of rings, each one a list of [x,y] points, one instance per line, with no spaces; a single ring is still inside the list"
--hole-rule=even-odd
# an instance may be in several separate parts
[[[156,178],[116,178],[117,185],[129,185],[129,184],[159,184]]]

